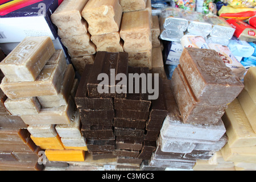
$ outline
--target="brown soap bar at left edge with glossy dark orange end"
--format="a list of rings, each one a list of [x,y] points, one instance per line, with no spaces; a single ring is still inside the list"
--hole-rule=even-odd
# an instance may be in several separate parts
[[[16,130],[0,130],[0,143],[1,144],[24,144],[30,140],[30,133],[26,129],[16,129]],[[0,151],[3,151],[0,149]],[[13,151],[13,150],[10,150]]]

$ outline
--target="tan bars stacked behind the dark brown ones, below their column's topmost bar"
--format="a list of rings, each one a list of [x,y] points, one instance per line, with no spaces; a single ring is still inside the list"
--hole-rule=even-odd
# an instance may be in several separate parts
[[[148,11],[124,13],[120,36],[124,41],[123,50],[129,53],[129,65],[151,69],[152,37]]]

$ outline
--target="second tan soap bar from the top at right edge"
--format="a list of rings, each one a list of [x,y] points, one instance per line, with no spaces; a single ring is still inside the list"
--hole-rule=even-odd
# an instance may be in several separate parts
[[[245,111],[246,117],[251,124],[251,127],[256,133],[256,104],[251,99],[249,93],[246,90],[242,90],[238,96],[238,100]]]

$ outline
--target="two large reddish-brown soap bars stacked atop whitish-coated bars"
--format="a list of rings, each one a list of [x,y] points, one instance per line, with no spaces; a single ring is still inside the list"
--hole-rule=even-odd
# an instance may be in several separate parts
[[[244,87],[216,51],[197,48],[184,49],[171,85],[183,122],[200,124],[217,123]]]

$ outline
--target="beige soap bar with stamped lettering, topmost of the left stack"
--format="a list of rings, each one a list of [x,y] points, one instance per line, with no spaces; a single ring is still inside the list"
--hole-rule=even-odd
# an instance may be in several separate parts
[[[51,38],[27,37],[0,63],[10,82],[35,81],[55,52]]]

